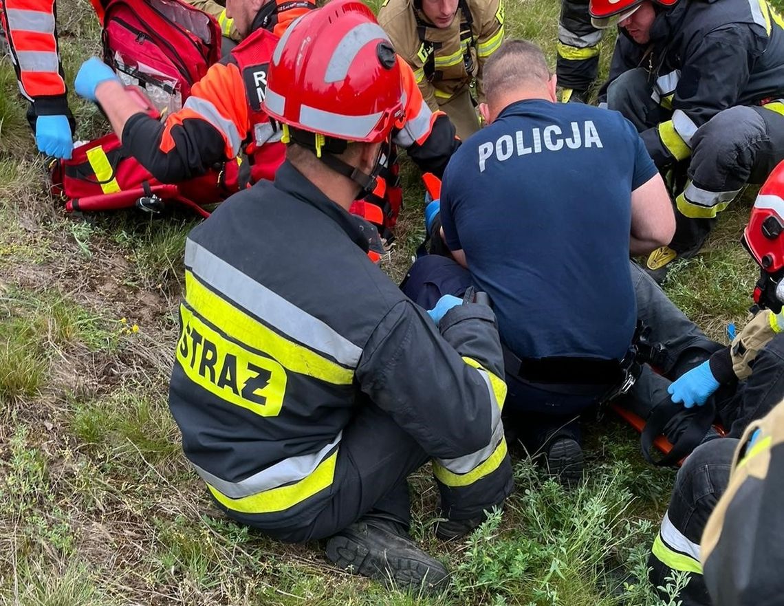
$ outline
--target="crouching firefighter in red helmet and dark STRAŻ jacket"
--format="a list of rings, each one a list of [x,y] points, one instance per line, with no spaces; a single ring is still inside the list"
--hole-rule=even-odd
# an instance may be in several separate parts
[[[292,24],[263,102],[287,159],[187,240],[169,405],[234,520],[330,537],[340,567],[428,588],[447,572],[408,539],[408,474],[433,461],[441,535],[480,524],[512,477],[492,310],[428,315],[368,260],[368,224],[348,212],[404,118],[400,72],[360,2]]]

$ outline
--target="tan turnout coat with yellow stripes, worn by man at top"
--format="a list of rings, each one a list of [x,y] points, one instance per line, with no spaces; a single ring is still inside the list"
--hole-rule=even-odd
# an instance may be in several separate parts
[[[503,41],[504,0],[460,0],[452,25],[439,29],[415,0],[386,0],[379,24],[397,54],[414,70],[430,109],[436,110],[474,82],[484,100],[482,66]]]

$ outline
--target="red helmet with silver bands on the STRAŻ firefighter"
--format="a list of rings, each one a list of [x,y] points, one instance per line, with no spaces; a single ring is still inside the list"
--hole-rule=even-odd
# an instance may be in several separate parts
[[[402,96],[397,56],[371,10],[332,0],[281,37],[263,107],[294,129],[376,143],[401,117]]]

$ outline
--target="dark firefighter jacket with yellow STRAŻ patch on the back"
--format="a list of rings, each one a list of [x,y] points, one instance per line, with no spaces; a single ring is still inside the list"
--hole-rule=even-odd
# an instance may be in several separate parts
[[[492,310],[459,306],[440,334],[368,259],[368,227],[286,162],[187,240],[169,406],[235,519],[309,524],[345,475],[343,429],[368,401],[434,457],[456,519],[510,490]]]

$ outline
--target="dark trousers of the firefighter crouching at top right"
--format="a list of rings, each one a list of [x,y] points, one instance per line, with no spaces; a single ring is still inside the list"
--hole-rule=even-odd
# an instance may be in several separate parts
[[[673,116],[652,93],[648,72],[637,67],[609,85],[608,109],[620,111],[643,132]],[[670,245],[677,252],[699,248],[717,212],[727,208],[746,183],[764,183],[784,159],[784,103],[720,111],[696,129],[688,147],[688,181],[677,192],[675,205],[681,216]]]

